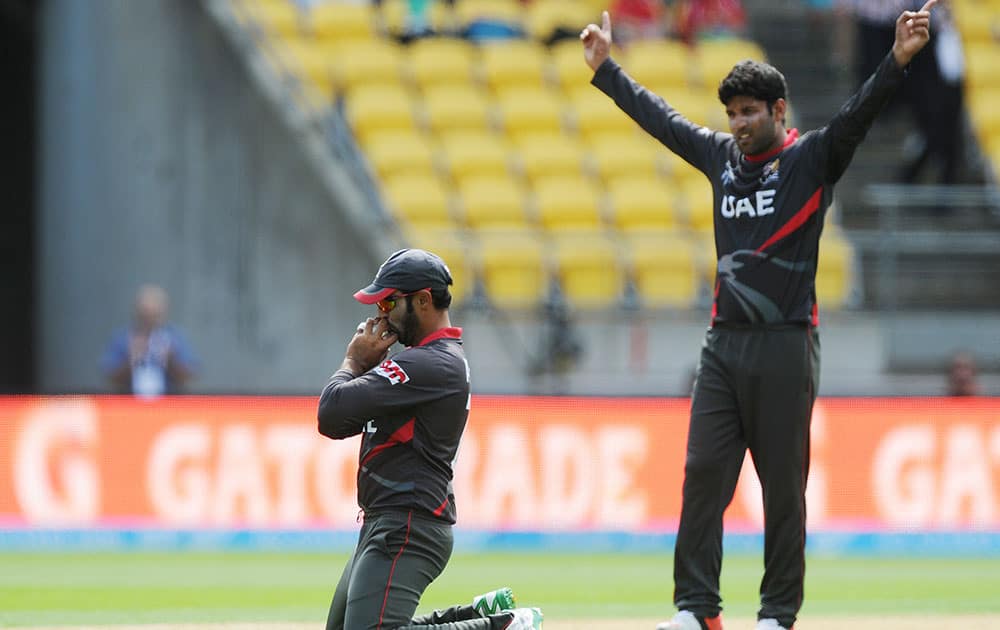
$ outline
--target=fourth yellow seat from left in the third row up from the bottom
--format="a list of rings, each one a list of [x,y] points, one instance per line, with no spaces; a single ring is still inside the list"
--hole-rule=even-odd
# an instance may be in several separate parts
[[[653,178],[669,172],[675,159],[663,145],[637,133],[592,136],[588,161],[605,184],[619,178]]]

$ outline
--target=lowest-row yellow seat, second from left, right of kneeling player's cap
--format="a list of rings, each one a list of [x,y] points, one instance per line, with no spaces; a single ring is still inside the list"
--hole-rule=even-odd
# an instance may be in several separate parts
[[[548,292],[545,249],[531,229],[476,231],[479,277],[490,302],[501,309],[535,308]]]

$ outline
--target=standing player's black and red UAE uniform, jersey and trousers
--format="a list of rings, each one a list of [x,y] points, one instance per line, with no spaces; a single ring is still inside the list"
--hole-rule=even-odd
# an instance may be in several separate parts
[[[904,72],[892,55],[823,128],[743,155],[611,59],[593,84],[708,178],[718,259],[712,325],[698,364],[674,562],[674,603],[719,613],[722,515],[747,448],[764,489],[759,618],[790,628],[802,604],[809,421],[819,381],[816,262],[833,186]]]

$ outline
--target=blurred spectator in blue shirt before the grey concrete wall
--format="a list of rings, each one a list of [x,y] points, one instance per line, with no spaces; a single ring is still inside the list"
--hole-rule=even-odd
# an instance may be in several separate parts
[[[155,398],[179,393],[194,376],[196,360],[184,336],[167,323],[167,292],[143,285],[132,326],[114,335],[101,368],[119,393]]]

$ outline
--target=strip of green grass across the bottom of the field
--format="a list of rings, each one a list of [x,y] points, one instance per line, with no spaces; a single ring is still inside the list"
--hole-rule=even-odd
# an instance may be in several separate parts
[[[0,554],[0,625],[322,623],[346,556],[326,553]],[[552,618],[672,609],[669,554],[456,554],[421,610],[510,585]],[[727,556],[726,611],[756,610],[761,559]],[[809,559],[803,614],[1000,611],[996,559]]]

